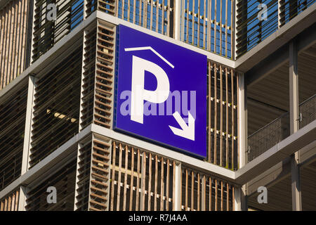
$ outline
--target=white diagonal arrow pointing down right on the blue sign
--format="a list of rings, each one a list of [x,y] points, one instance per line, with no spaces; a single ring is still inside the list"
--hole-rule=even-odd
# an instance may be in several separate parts
[[[192,117],[190,112],[188,112],[188,114],[189,114],[189,120],[188,120],[188,124],[186,124],[178,112],[173,113],[173,117],[176,119],[181,129],[178,129],[176,127],[171,127],[171,126],[169,127],[171,131],[173,131],[173,134],[182,136],[185,139],[190,139],[192,141],[195,141],[195,118]]]

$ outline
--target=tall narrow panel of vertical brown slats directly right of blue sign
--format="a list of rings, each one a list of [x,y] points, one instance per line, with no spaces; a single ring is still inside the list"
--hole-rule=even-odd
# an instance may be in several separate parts
[[[238,74],[217,63],[208,63],[207,160],[237,169]]]

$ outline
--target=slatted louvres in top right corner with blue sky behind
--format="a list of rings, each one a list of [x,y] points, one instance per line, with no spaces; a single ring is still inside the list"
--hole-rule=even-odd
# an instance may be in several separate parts
[[[316,0],[239,1],[236,4],[236,57],[253,49],[315,2]],[[263,6],[267,8],[266,15]]]

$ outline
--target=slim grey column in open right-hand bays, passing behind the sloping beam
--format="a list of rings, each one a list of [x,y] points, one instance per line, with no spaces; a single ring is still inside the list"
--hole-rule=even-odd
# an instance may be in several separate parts
[[[298,51],[296,41],[289,44],[289,113],[290,134],[298,131]],[[299,152],[291,155],[292,210],[302,210]]]

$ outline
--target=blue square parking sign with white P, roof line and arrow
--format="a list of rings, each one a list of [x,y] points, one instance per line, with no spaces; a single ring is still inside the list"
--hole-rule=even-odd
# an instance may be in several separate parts
[[[114,130],[206,157],[206,56],[117,27]]]

